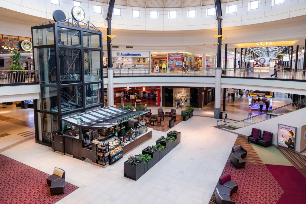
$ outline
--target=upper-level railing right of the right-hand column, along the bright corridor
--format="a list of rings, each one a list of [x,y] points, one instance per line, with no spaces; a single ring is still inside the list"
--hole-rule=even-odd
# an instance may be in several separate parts
[[[305,69],[290,69],[291,67],[283,67],[285,69],[269,69],[254,68],[246,69],[245,67],[237,69],[222,69],[222,77],[233,78],[258,78],[270,80],[306,80]],[[276,71],[277,70],[277,71]]]

